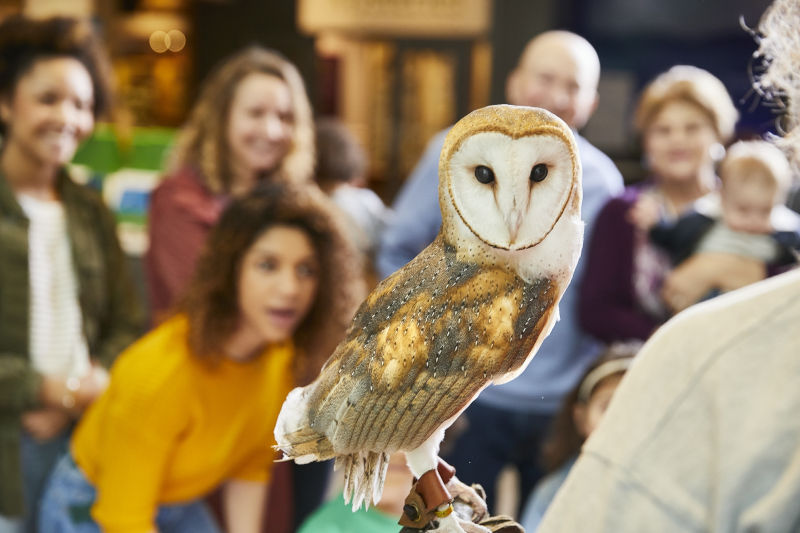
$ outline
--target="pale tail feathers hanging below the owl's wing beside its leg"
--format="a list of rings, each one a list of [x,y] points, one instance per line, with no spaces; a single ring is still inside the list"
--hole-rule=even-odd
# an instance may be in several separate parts
[[[364,451],[338,456],[334,468],[344,468],[344,503],[352,499],[353,511],[362,503],[367,508],[378,503],[388,467],[387,453]]]

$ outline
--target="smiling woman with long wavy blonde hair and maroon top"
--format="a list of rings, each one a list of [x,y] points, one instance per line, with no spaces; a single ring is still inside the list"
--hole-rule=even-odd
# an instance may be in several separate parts
[[[206,79],[150,200],[146,256],[155,322],[176,302],[223,207],[265,180],[310,181],[311,106],[297,69],[252,46]]]

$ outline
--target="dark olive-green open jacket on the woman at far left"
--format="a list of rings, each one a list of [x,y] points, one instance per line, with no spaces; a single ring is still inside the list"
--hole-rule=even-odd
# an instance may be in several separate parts
[[[109,367],[143,331],[143,308],[128,273],[113,215],[102,198],[62,171],[56,182],[67,219],[83,331],[93,359]],[[22,513],[20,414],[39,403],[29,335],[28,219],[0,174],[0,515]]]

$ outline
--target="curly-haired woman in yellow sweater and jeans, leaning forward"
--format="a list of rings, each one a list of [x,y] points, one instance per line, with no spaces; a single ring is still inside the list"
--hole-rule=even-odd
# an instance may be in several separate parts
[[[134,344],[87,411],[40,512],[48,532],[260,531],[284,397],[330,353],[360,300],[322,193],[272,184],[235,201],[182,311]]]

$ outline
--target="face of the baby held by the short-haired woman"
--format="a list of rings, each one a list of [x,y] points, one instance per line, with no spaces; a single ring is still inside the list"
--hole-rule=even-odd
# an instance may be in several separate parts
[[[730,229],[744,233],[771,233],[770,214],[775,187],[757,181],[724,183],[721,191],[722,220]]]

